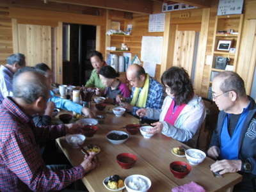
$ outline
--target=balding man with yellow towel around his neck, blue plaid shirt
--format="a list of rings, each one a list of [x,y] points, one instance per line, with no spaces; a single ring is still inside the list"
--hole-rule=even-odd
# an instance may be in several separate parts
[[[126,76],[132,86],[131,102],[124,102],[121,95],[116,97],[116,102],[120,102],[132,115],[136,115],[140,108],[161,109],[164,93],[161,83],[148,76],[144,68],[137,64],[127,68]]]

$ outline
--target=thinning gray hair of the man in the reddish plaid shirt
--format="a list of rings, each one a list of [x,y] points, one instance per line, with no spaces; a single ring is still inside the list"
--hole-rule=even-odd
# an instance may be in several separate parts
[[[13,97],[24,100],[27,104],[35,102],[39,97],[49,97],[49,88],[45,77],[33,67],[21,68],[13,77]]]

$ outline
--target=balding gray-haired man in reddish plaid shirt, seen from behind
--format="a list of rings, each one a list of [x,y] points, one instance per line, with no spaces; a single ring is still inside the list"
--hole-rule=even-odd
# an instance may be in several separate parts
[[[70,169],[45,166],[40,141],[54,140],[78,128],[77,124],[35,127],[31,116],[44,113],[48,97],[45,77],[33,68],[15,74],[13,97],[0,104],[0,191],[59,191],[97,165],[94,154],[89,154]]]

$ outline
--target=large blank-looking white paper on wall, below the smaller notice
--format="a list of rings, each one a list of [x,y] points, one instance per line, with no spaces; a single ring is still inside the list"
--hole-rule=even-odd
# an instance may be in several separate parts
[[[143,36],[141,41],[141,61],[161,63],[163,36]]]

